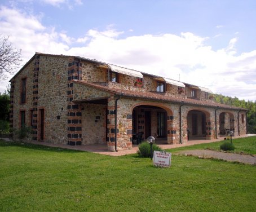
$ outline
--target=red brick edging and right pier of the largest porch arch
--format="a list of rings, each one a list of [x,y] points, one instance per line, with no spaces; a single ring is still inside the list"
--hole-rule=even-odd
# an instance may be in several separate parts
[[[167,113],[167,143],[168,144],[173,144],[174,140],[176,140],[176,131],[173,130],[173,110],[171,107],[164,105],[163,103],[149,103],[146,101],[136,103],[131,107],[130,109],[130,114],[133,113],[134,108],[139,107],[140,105],[148,105],[148,106],[155,106],[158,108],[162,108],[166,111]]]

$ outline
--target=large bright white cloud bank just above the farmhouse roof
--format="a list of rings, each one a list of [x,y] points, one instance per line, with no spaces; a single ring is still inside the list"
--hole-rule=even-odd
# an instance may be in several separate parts
[[[183,82],[256,100],[256,50],[236,55],[236,37],[226,48],[216,51],[205,45],[210,38],[189,32],[125,37],[125,32],[113,29],[113,25],[102,32],[90,29],[80,38],[72,38],[67,32],[42,25],[38,16],[7,7],[0,7],[0,28],[3,34],[10,35],[16,48],[23,50],[24,63],[36,51],[79,55],[174,80],[180,75]],[[1,92],[6,85],[2,83]]]

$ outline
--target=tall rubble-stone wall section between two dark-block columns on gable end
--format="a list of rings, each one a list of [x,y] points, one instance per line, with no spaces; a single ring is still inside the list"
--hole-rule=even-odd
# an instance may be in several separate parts
[[[46,142],[67,144],[68,141],[68,64],[66,57],[40,56],[38,110],[45,110]]]

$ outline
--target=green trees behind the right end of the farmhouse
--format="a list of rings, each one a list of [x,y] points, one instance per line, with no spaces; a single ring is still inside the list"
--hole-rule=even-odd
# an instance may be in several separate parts
[[[221,94],[214,94],[214,101],[222,104],[233,105],[239,108],[249,109],[247,113],[248,118],[248,133],[256,134],[256,101],[239,100],[230,96],[223,96]]]

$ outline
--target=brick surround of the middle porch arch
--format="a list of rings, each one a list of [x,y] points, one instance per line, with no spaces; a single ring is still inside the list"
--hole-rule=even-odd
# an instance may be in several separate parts
[[[205,132],[206,132],[206,139],[213,139],[215,135],[215,128],[214,128],[214,122],[211,120],[211,114],[206,108],[201,108],[201,107],[189,107],[186,110],[187,118],[183,120],[184,126],[188,127],[188,113],[191,111],[200,111],[205,114]],[[185,128],[185,127],[183,127]],[[183,129],[184,130],[184,129]],[[185,129],[186,130],[186,129]],[[203,129],[202,129],[203,130]],[[185,132],[183,132],[184,134]],[[186,134],[186,133],[185,133]],[[192,135],[192,132],[190,133]],[[187,138],[184,138],[184,140],[187,140]]]

